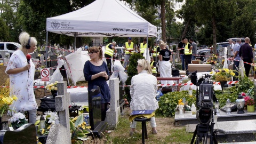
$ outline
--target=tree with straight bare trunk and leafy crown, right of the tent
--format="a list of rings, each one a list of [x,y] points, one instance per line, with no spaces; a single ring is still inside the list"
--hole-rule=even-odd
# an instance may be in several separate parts
[[[197,8],[196,20],[202,24],[211,20],[214,53],[217,53],[217,20],[227,21],[228,18],[233,17],[237,8],[235,2],[235,0],[194,0],[194,5]]]

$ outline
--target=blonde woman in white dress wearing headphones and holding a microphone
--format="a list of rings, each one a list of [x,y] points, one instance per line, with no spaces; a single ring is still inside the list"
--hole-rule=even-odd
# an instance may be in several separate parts
[[[22,47],[15,51],[6,67],[5,73],[10,76],[11,95],[16,95],[18,100],[11,105],[13,112],[25,113],[28,111],[29,123],[36,122],[37,103],[35,99],[33,84],[35,68],[41,66],[39,63],[34,65],[31,59],[28,61],[26,55],[36,49],[36,38],[30,37],[28,33],[22,32],[19,36]],[[13,114],[11,114],[13,115]]]

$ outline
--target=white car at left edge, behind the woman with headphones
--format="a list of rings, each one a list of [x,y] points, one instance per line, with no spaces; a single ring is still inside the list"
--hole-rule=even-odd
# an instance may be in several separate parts
[[[1,51],[7,51],[5,54],[13,53],[16,51],[21,45],[19,43],[14,43],[14,42],[0,42],[0,52]],[[2,53],[2,56],[4,54]],[[11,57],[11,54],[10,54]]]

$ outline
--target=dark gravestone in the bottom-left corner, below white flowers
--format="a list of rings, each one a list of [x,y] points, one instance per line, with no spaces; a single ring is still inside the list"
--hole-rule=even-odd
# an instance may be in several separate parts
[[[22,125],[14,131],[0,131],[0,143],[25,144],[36,143],[36,126],[34,124]],[[3,135],[4,134],[4,135]]]

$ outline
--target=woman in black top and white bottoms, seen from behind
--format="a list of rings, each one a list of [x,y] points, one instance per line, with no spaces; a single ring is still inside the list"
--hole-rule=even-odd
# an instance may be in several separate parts
[[[166,49],[166,45],[163,41],[160,42],[161,51],[159,52],[159,69],[160,77],[172,77],[172,67],[170,61],[172,61],[171,51]],[[173,84],[173,81],[161,81],[161,84]]]

